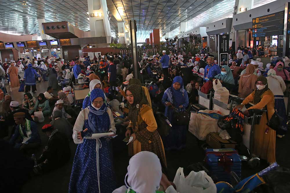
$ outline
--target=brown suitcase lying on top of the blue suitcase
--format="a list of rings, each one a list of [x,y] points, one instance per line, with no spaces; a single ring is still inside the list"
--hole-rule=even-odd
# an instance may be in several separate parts
[[[235,148],[237,143],[231,139],[222,139],[219,133],[210,133],[206,136],[206,143],[215,149],[220,148]]]

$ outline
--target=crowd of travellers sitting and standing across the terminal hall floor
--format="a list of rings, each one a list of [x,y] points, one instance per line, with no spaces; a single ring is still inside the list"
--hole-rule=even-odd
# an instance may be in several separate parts
[[[144,53],[138,61],[138,77],[133,76],[131,56],[120,53],[98,54],[94,58],[76,56],[71,61],[47,57],[4,63],[0,71],[3,70],[2,77],[8,78],[10,87],[19,87],[19,70],[24,72],[25,94],[22,106],[13,101],[13,96],[5,96],[1,138],[31,155],[41,144],[35,122],[49,117],[51,122],[41,128],[49,138],[48,145],[36,159],[33,175],[66,164],[71,156],[68,144],[73,141],[78,145],[69,192],[117,193],[130,188],[142,192],[148,187],[138,183],[141,178],[136,177],[154,170],[155,181],[150,183],[149,175],[153,175],[150,173],[146,183],[153,191],[161,184],[165,192],[173,193],[174,185],[166,177],[165,152],[186,148],[187,130],[186,123],[173,123],[174,115],[188,111],[191,104],[198,103],[198,91],[203,88],[208,94],[213,82],[219,80],[230,93],[244,99],[240,107],[249,102],[254,104],[244,111],[245,115],[250,109],[267,106],[269,119],[275,111],[283,117],[277,133],[271,128],[265,133],[266,116],[255,128],[253,153],[269,163],[275,162],[276,135],[283,137],[287,131],[283,92],[290,76],[284,63],[267,64],[264,69],[260,58],[254,59],[247,48],[230,54],[229,64],[221,67],[215,59],[204,50],[195,56],[181,50],[163,50],[152,57]],[[37,91],[37,80],[48,81],[49,87],[34,97],[30,88],[32,93]],[[73,83],[84,83],[84,88],[89,88],[83,101],[74,100]],[[57,95],[53,94],[55,90],[60,90]],[[76,106],[81,107],[79,113]],[[157,127],[157,111],[164,113],[171,125],[168,135],[158,132],[162,128]],[[116,189],[112,140],[120,135],[120,127],[126,128],[122,135],[129,142],[128,154],[133,157],[128,166],[128,186]],[[101,133],[108,135],[96,137]],[[146,159],[152,161],[153,169],[142,167]]]

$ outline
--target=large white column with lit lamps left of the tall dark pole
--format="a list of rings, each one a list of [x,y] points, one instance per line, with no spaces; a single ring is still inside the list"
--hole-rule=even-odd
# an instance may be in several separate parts
[[[106,37],[111,43],[111,29],[106,0],[88,0],[90,33],[92,37]]]

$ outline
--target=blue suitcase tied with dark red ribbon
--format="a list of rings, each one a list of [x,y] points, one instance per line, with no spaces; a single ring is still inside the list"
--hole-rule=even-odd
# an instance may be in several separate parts
[[[205,152],[205,161],[218,181],[231,183],[231,171],[241,177],[242,161],[235,149],[206,149]]]

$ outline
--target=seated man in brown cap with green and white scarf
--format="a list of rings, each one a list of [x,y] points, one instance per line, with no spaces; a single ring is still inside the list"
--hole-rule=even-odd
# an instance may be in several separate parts
[[[27,150],[40,145],[40,137],[35,122],[25,119],[25,113],[14,113],[14,120],[17,124],[15,133],[9,143],[15,145],[14,148]],[[20,139],[18,140],[18,137]]]

